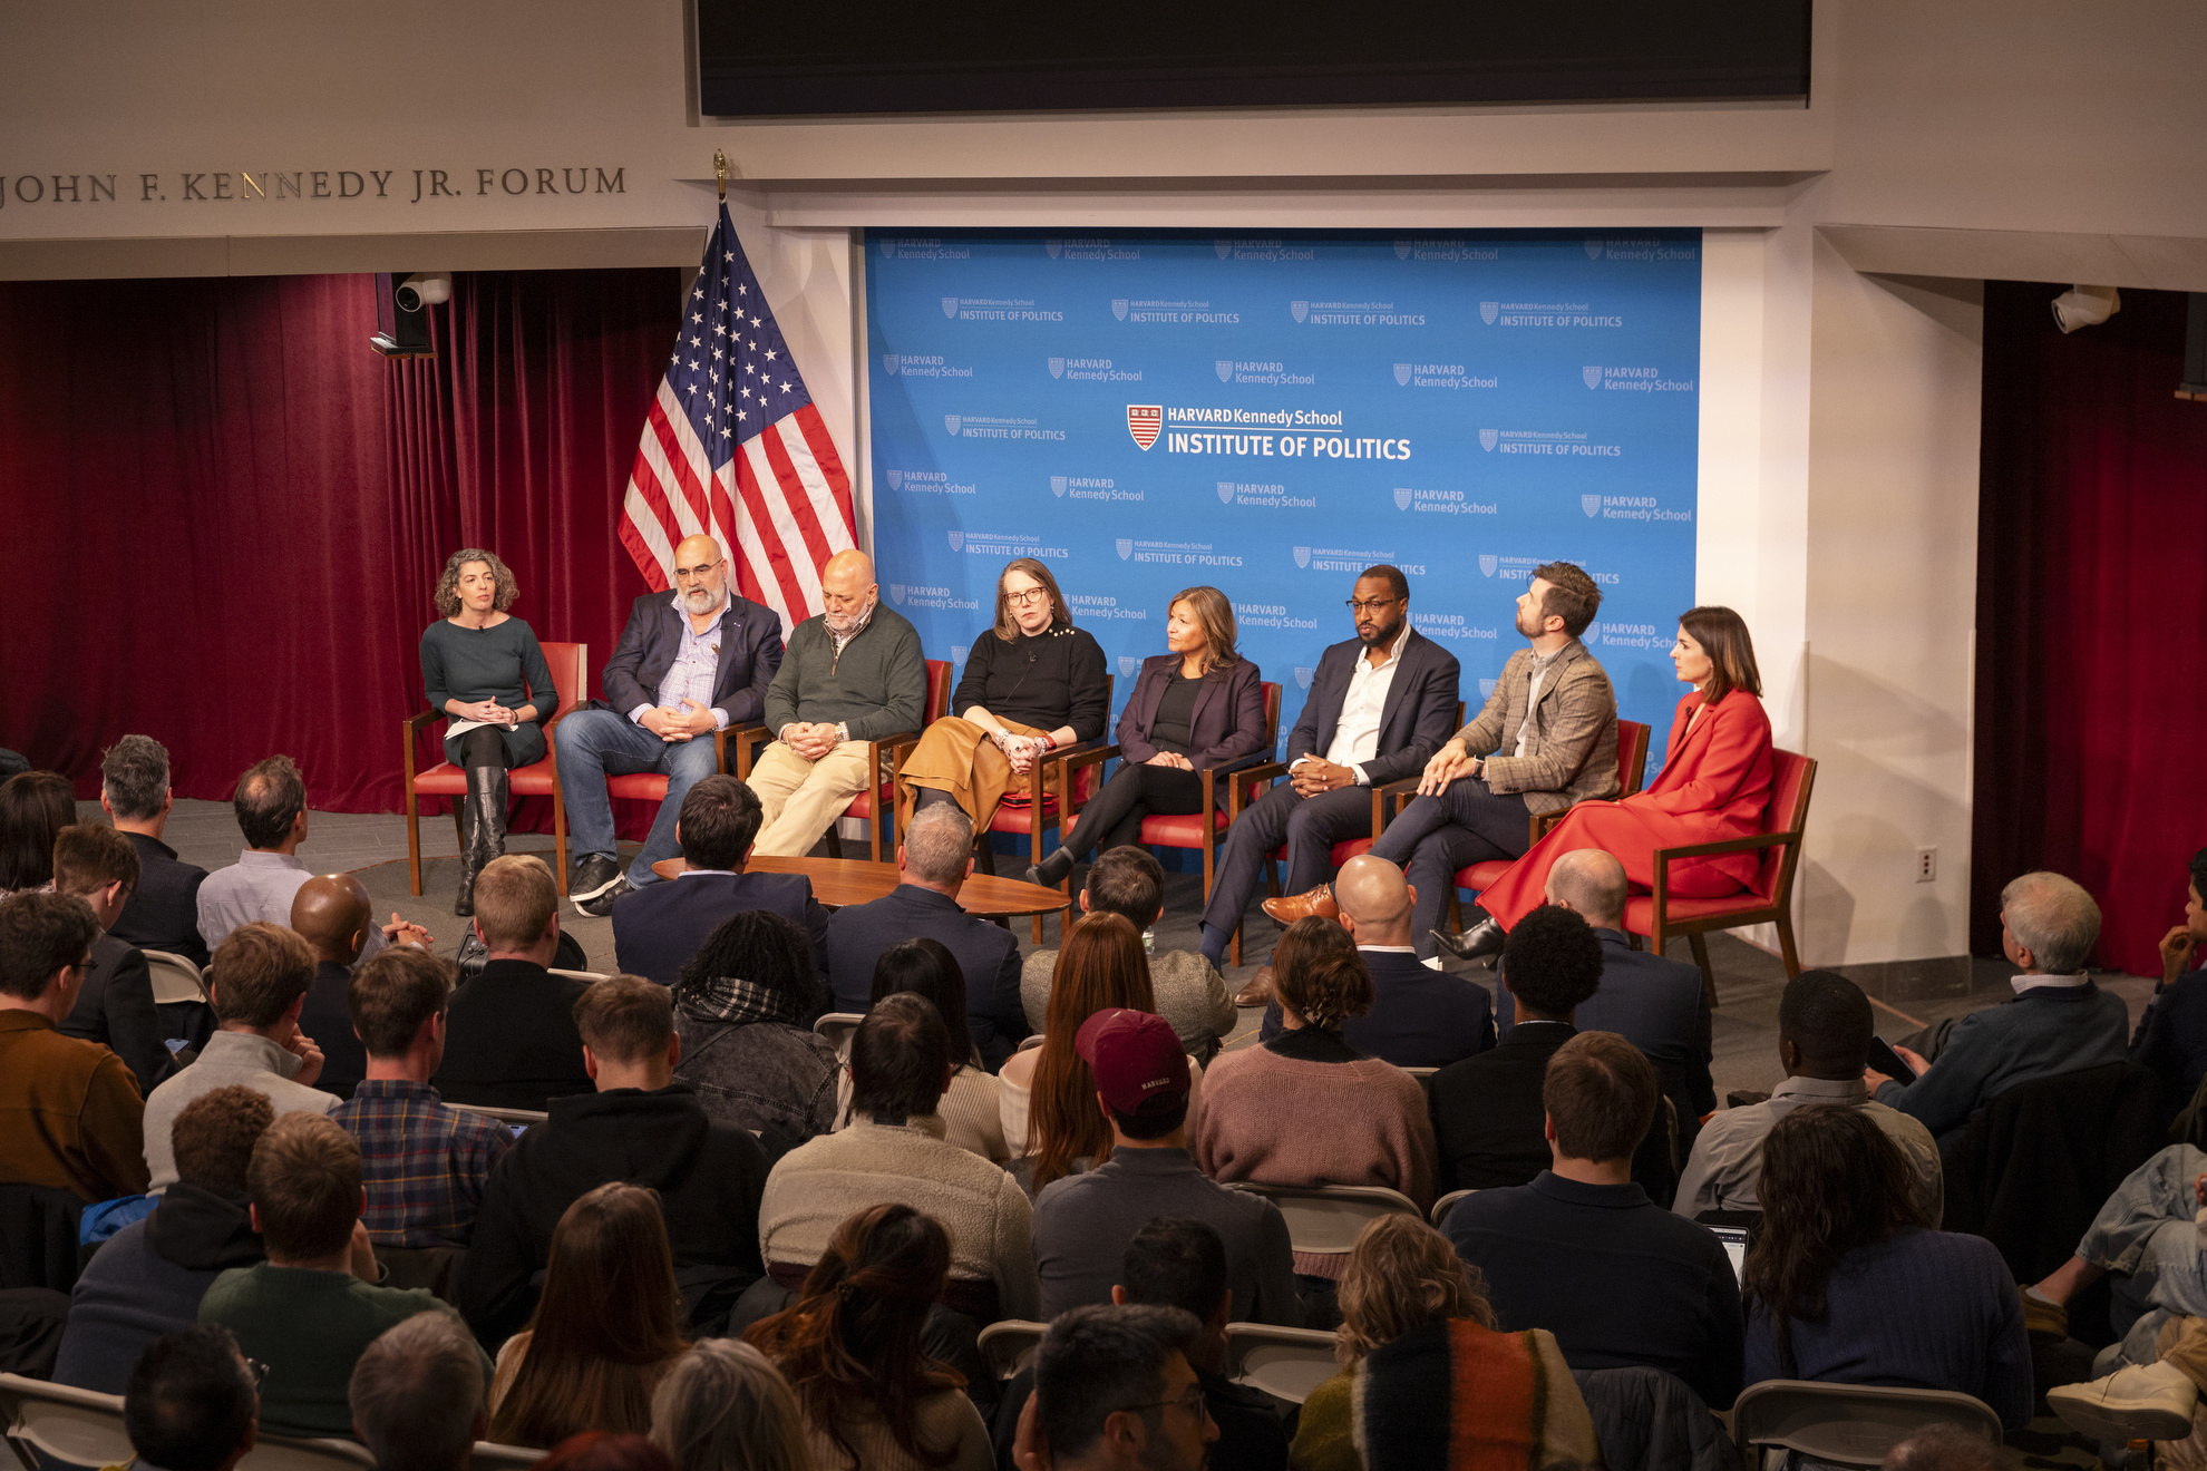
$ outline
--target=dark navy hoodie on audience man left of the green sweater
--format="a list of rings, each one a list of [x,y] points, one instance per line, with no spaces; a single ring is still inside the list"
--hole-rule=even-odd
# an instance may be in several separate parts
[[[207,1284],[263,1255],[245,1195],[168,1187],[154,1213],[117,1231],[77,1277],[53,1383],[121,1394],[148,1343],[199,1321]]]

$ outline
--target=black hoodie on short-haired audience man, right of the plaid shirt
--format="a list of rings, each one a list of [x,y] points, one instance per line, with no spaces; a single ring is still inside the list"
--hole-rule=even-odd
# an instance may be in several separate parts
[[[680,1078],[554,1098],[550,1123],[505,1151],[459,1268],[459,1310],[492,1350],[527,1325],[552,1257],[552,1228],[580,1195],[620,1180],[649,1184],[667,1213],[675,1281],[691,1325],[708,1330],[766,1270],[759,1191],[766,1151],[748,1129],[706,1118]]]

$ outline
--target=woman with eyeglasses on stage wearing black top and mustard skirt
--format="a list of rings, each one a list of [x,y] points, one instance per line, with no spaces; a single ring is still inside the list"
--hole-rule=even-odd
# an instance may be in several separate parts
[[[1057,578],[1035,558],[1015,558],[998,576],[995,626],[973,640],[951,712],[927,728],[896,776],[898,823],[929,803],[958,803],[973,831],[987,831],[1037,756],[1104,734],[1104,651],[1073,626]]]

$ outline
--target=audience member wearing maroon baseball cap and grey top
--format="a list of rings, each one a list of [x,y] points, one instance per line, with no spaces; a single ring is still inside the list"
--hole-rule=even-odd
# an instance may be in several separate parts
[[[1108,1303],[1128,1242],[1154,1217],[1176,1215],[1225,1242],[1218,1286],[1243,1321],[1302,1328],[1280,1206],[1207,1180],[1187,1153],[1190,1065],[1172,1026],[1148,1012],[1104,1010],[1081,1026],[1075,1048],[1095,1078],[1090,1098],[1110,1125],[1110,1147],[1095,1169],[1035,1200],[1042,1317]]]

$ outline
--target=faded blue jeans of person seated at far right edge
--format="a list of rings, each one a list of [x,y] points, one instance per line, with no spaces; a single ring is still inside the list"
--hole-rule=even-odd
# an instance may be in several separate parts
[[[2154,1339],[2169,1317],[2207,1317],[2207,1253],[2194,1224],[2198,1200],[2192,1182],[2207,1173],[2207,1153],[2192,1145],[2169,1145],[2130,1173],[2077,1255],[2108,1268],[2112,1328],[2123,1334],[2094,1361],[2094,1374],[2112,1374],[2125,1363],[2154,1363]],[[2101,1367],[2105,1365],[2105,1367]]]

